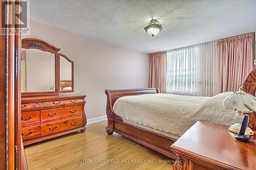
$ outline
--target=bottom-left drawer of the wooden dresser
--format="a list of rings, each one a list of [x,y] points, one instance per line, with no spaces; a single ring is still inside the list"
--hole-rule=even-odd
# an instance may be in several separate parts
[[[31,126],[31,127],[26,127],[22,128],[22,139],[29,140],[29,139],[34,139],[37,137],[41,137],[41,126]]]

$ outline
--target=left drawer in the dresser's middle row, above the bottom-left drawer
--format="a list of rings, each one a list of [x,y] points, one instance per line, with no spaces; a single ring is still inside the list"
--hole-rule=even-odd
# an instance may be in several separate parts
[[[21,113],[21,120],[22,126],[40,123],[40,111],[27,111]]]

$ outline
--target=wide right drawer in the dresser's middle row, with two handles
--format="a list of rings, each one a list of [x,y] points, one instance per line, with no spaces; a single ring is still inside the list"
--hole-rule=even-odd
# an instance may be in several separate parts
[[[82,105],[41,110],[41,122],[82,115]]]

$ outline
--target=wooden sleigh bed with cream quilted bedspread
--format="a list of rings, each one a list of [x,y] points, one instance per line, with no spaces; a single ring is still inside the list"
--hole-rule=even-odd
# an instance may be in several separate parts
[[[256,69],[247,76],[243,85],[246,92],[255,95]],[[116,132],[173,159],[176,159],[176,155],[170,149],[170,145],[197,119],[205,118],[203,120],[207,122],[229,125],[232,123],[233,115],[236,114],[232,111],[223,110],[221,107],[211,111],[216,108],[210,103],[217,101],[217,104],[220,105],[228,92],[218,94],[218,99],[215,97],[162,94],[157,88],[105,90],[105,93],[107,96],[106,115],[108,117],[106,133],[111,135]],[[173,101],[173,104],[170,104],[170,101]],[[192,107],[186,105],[189,101],[197,101],[194,103],[195,108],[193,105]],[[164,109],[166,113],[161,114],[161,112],[165,112],[162,110],[163,107],[166,107]],[[183,114],[181,113],[175,119],[167,119],[168,116],[175,114],[175,112],[168,113],[168,110],[174,110],[176,113],[181,113],[183,110]],[[256,130],[255,112],[251,112],[249,115],[248,127]],[[161,122],[164,123],[161,125],[159,124]]]

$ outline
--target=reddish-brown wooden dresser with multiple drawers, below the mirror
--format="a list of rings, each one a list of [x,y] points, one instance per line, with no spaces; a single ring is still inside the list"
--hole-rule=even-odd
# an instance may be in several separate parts
[[[86,130],[86,95],[59,94],[22,97],[21,132],[24,145]]]

